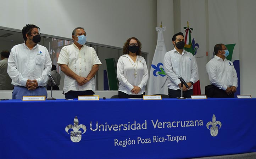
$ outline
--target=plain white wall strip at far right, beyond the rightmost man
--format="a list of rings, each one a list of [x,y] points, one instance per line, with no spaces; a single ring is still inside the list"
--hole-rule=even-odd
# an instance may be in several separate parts
[[[251,94],[256,98],[256,14],[255,0],[238,0],[238,34],[241,94]]]

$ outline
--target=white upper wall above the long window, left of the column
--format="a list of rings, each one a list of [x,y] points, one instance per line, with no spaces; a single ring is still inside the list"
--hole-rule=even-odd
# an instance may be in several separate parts
[[[156,0],[9,0],[1,3],[6,14],[0,14],[0,26],[22,29],[35,24],[41,33],[67,38],[81,26],[87,41],[116,47],[135,36],[151,62],[157,39],[156,5]]]

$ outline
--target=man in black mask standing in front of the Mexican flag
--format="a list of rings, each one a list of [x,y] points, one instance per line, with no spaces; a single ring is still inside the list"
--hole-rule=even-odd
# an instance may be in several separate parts
[[[173,35],[172,43],[174,49],[167,52],[164,58],[165,73],[169,77],[169,98],[180,97],[181,89],[184,91],[183,97],[191,98],[191,95],[193,95],[193,84],[198,73],[195,57],[192,53],[183,49],[185,46],[183,33]],[[187,83],[188,88],[184,85],[181,88],[179,75]]]

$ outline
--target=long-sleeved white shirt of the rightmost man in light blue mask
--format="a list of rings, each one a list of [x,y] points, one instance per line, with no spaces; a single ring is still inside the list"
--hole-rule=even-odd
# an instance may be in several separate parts
[[[210,83],[219,89],[226,90],[230,86],[237,87],[237,75],[233,63],[226,58],[214,55],[207,64],[206,72]]]

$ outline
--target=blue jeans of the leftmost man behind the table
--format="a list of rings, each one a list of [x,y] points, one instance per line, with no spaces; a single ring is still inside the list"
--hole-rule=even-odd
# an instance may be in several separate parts
[[[23,96],[45,96],[47,98],[47,92],[45,87],[38,87],[35,90],[28,90],[23,86],[15,86],[12,92],[12,99],[22,99]]]

